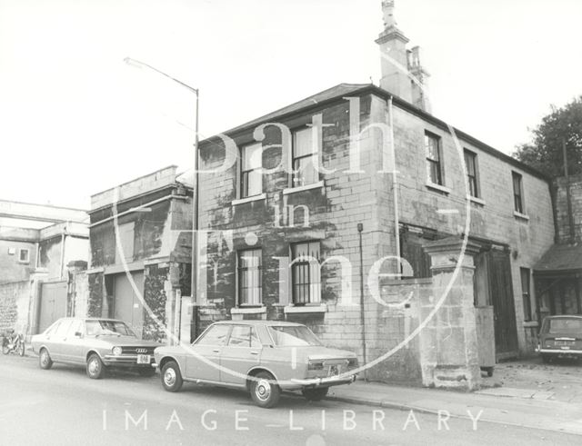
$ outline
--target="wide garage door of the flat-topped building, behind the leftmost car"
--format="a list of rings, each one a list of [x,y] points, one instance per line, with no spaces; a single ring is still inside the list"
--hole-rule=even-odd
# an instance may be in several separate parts
[[[144,273],[131,273],[131,279],[125,273],[115,275],[113,292],[113,317],[126,322],[141,338],[144,329]]]

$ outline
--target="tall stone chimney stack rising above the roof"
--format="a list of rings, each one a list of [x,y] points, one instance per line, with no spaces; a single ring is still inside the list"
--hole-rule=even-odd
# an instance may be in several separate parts
[[[380,46],[380,86],[410,104],[430,113],[426,84],[430,74],[421,64],[420,47],[406,48],[409,40],[396,26],[394,0],[383,0],[384,31],[376,40]]]

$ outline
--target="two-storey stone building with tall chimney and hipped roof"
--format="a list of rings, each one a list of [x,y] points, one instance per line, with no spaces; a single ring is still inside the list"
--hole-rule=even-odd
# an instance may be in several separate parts
[[[497,359],[532,344],[550,184],[428,113],[420,51],[383,6],[380,86],[339,84],[200,144],[196,332],[304,322],[375,378],[471,388],[479,342]]]

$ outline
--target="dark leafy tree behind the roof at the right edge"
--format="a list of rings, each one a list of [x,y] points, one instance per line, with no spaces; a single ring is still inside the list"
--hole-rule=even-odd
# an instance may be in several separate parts
[[[532,141],[517,146],[514,156],[549,176],[564,175],[562,142],[566,143],[568,173],[582,173],[582,96],[557,108],[532,130]]]

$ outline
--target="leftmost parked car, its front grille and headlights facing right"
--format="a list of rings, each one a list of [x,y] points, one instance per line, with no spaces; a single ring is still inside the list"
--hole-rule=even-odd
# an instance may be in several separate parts
[[[107,369],[123,368],[143,376],[156,373],[157,342],[142,341],[123,321],[62,318],[32,338],[42,369],[53,362],[85,365],[89,378],[98,380]]]

